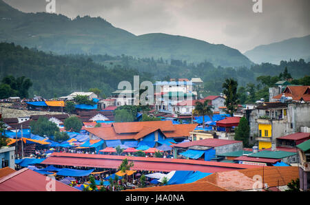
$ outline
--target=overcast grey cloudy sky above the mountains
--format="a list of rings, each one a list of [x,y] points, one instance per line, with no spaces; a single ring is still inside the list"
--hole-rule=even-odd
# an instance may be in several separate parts
[[[23,12],[45,12],[46,0],[4,0]],[[135,35],[165,33],[225,44],[240,52],[310,34],[309,0],[56,0],[56,13],[102,17]]]

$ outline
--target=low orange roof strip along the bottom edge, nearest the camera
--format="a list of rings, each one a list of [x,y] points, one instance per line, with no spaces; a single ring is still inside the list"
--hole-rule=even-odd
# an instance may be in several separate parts
[[[210,182],[193,182],[189,184],[175,184],[154,186],[147,188],[127,189],[125,191],[228,191]]]

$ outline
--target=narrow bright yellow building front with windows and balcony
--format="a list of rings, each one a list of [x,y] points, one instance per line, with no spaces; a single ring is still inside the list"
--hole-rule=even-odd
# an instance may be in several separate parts
[[[271,124],[266,121],[258,123],[258,149],[271,148]]]

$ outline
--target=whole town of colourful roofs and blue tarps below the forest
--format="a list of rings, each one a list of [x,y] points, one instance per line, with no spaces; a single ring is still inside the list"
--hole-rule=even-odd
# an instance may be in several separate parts
[[[107,98],[76,91],[50,100],[1,100],[1,115],[16,115],[2,118],[8,143],[0,152],[0,190],[41,191],[41,175],[66,184],[56,191],[285,191],[292,182],[309,190],[310,86],[278,82],[269,102],[236,105],[227,114],[225,94],[198,96],[200,78],[154,85],[160,87],[154,105],[136,111],[132,122],[117,121],[116,113],[136,105],[134,90]],[[81,96],[87,104],[77,102]],[[197,112],[197,102],[211,111]],[[36,134],[43,118],[67,138]],[[78,129],[68,127],[70,118],[81,123]],[[247,139],[236,139],[241,119]],[[10,186],[26,175],[37,180]],[[258,186],[254,175],[262,177]]]

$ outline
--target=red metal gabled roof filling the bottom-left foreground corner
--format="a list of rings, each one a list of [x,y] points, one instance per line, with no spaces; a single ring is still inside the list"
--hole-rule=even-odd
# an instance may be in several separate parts
[[[56,180],[48,181],[45,175],[27,168],[1,178],[0,191],[48,191],[48,182],[54,182],[55,191],[79,191]]]

